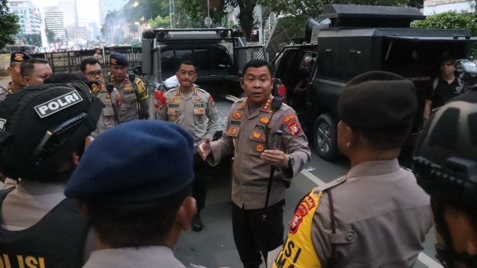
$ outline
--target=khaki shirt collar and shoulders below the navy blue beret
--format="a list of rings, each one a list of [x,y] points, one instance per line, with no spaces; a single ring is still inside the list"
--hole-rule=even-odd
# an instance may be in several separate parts
[[[119,247],[93,252],[83,268],[167,267],[185,268],[169,247]]]

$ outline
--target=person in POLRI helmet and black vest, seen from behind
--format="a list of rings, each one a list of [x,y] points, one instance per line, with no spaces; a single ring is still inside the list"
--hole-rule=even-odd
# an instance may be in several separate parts
[[[30,86],[0,103],[0,172],[22,179],[0,191],[6,267],[82,267],[89,256],[88,223],[63,191],[101,107],[79,82]]]

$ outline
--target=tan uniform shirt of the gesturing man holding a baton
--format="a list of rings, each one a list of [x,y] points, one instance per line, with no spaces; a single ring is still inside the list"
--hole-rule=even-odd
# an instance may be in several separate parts
[[[249,111],[247,98],[232,105],[221,139],[211,143],[211,165],[217,165],[223,157],[234,153],[232,170],[232,201],[244,209],[262,209],[265,206],[271,165],[260,159],[265,150],[265,130],[269,131],[269,144],[273,148],[277,129],[283,136],[280,150],[291,155],[295,164],[289,172],[275,172],[269,206],[285,198],[284,179],[291,179],[310,161],[308,140],[298,122],[295,111],[282,104],[272,113],[271,99],[261,108]],[[273,115],[273,117],[272,117]]]

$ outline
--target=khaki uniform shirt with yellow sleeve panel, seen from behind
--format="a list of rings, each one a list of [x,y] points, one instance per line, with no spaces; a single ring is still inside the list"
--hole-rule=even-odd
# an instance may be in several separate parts
[[[302,200],[273,267],[414,267],[432,226],[429,203],[397,159],[360,163]]]

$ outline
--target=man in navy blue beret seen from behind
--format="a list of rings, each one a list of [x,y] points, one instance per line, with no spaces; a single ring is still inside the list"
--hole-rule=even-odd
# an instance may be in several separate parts
[[[180,126],[156,120],[120,124],[95,139],[65,189],[98,232],[85,268],[185,267],[172,250],[197,210],[193,144]]]

